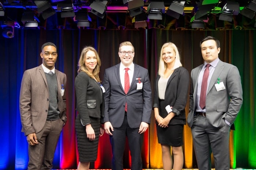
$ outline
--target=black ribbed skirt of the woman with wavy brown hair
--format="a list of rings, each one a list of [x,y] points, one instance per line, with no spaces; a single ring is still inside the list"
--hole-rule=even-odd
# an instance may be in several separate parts
[[[100,118],[91,118],[91,126],[95,133],[94,141],[87,138],[86,127],[82,125],[79,114],[75,120],[76,139],[78,143],[79,162],[93,162],[97,159],[100,133]]]

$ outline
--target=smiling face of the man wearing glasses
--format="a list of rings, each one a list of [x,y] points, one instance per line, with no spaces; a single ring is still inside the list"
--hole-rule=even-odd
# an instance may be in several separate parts
[[[126,52],[125,55],[123,55],[122,52]],[[132,54],[129,55],[128,52],[132,52]],[[132,46],[121,46],[118,55],[120,57],[121,63],[123,63],[125,67],[129,67],[134,58],[134,51]]]

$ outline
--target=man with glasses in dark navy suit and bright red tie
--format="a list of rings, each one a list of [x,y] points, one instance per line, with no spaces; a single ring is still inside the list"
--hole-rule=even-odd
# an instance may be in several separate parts
[[[133,63],[134,47],[131,42],[121,43],[118,55],[121,63],[106,69],[103,80],[106,91],[103,122],[112,145],[112,169],[123,170],[127,137],[132,158],[131,169],[141,170],[143,134],[151,121],[151,85],[148,70]],[[128,80],[125,80],[127,72]],[[129,86],[127,90],[126,82]]]

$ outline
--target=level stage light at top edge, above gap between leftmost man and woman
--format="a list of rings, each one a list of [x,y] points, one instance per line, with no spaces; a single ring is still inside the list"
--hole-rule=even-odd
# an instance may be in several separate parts
[[[71,0],[61,1],[57,4],[58,11],[61,11],[60,17],[74,17],[74,5]]]

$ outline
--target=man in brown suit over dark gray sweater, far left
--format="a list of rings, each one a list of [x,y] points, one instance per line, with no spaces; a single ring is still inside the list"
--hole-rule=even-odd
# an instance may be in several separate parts
[[[66,75],[55,69],[57,47],[45,43],[42,64],[26,70],[20,87],[20,119],[29,144],[29,170],[52,169],[54,151],[67,120]]]

